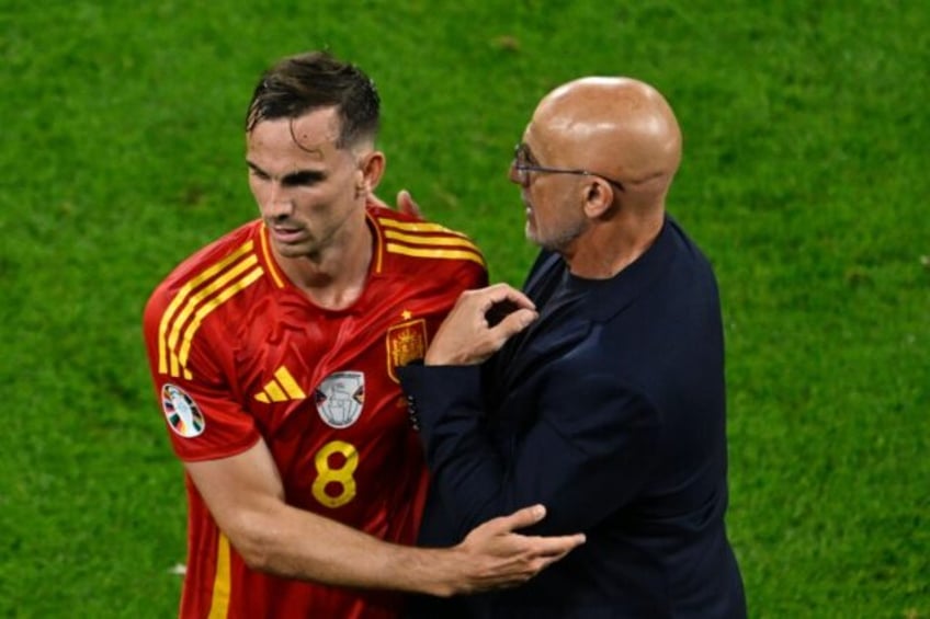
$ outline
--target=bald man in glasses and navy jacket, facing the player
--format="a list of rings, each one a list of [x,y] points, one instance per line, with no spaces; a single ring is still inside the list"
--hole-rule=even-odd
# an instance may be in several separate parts
[[[727,506],[710,263],[666,214],[681,160],[650,85],[585,78],[536,107],[510,180],[542,248],[523,291],[465,293],[402,387],[433,473],[420,542],[543,503],[588,542],[529,584],[419,617],[745,617]]]

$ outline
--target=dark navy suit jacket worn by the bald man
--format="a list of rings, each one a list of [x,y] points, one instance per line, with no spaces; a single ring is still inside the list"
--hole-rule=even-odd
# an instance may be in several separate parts
[[[532,532],[587,542],[526,585],[418,598],[413,616],[745,617],[706,259],[667,218],[613,278],[544,252],[524,290],[540,319],[484,366],[401,372],[433,474],[419,543],[454,545],[534,503],[547,516]]]

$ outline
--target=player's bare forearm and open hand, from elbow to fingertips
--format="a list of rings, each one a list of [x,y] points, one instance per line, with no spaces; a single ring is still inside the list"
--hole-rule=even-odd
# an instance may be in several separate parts
[[[436,596],[524,583],[585,541],[583,535],[514,532],[545,516],[541,505],[488,520],[457,546],[435,549],[388,543],[281,503],[252,514],[229,518],[224,530],[254,569],[336,586]]]

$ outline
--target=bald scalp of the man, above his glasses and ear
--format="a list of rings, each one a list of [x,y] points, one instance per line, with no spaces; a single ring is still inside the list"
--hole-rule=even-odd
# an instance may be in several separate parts
[[[634,198],[664,200],[681,161],[681,130],[653,87],[622,77],[589,77],[548,93],[530,129],[547,161],[604,174]]]

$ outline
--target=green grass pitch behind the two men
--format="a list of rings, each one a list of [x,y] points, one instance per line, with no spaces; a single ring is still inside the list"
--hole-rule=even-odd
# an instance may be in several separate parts
[[[677,110],[670,211],[714,262],[752,617],[930,618],[925,2],[0,0],[0,616],[172,617],[181,467],[140,312],[252,218],[260,71],[329,47],[384,100],[382,195],[533,256],[506,180],[554,85]]]

